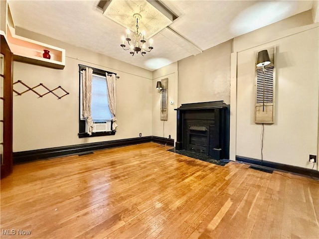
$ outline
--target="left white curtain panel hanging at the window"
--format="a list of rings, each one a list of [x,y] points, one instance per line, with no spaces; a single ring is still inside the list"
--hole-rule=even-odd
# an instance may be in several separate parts
[[[83,72],[83,117],[86,119],[88,125],[88,134],[92,134],[93,120],[91,116],[91,99],[92,99],[92,74],[91,68],[86,68]]]

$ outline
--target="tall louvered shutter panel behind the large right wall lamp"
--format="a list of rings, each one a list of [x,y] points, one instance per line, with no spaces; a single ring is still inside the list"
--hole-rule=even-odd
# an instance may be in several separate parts
[[[271,63],[265,67],[265,80],[262,67],[256,67],[255,123],[274,123],[275,108],[275,48],[267,49]],[[256,53],[256,59],[257,59]]]

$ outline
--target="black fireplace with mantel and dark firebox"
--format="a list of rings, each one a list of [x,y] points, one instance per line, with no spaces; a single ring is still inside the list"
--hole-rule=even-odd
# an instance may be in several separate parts
[[[176,150],[229,159],[229,105],[223,101],[182,104],[177,111]]]

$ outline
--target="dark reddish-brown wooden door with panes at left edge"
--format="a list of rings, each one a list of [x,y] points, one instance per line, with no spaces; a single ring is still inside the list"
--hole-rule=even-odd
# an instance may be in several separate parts
[[[0,161],[1,178],[12,172],[12,52],[0,39]]]

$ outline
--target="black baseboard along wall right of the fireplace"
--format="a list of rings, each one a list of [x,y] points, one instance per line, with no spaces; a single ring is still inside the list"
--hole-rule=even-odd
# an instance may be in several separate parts
[[[256,165],[260,165],[261,163],[259,159],[248,158],[248,157],[237,156],[237,155],[236,155],[236,161],[242,161],[242,162],[256,164]],[[288,164],[265,161],[265,160],[263,160],[262,166],[319,178],[319,171],[314,169],[302,168],[302,167],[292,166]]]

